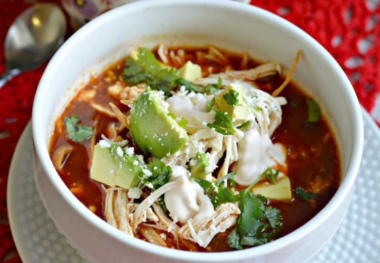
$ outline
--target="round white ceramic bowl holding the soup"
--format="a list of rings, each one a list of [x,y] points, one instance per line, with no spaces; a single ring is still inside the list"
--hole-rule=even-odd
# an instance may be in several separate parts
[[[64,185],[49,158],[53,122],[92,73],[127,54],[128,47],[214,44],[248,51],[289,68],[315,96],[335,131],[343,179],[328,205],[305,225],[259,247],[224,253],[194,253],[158,247],[128,236],[96,217]],[[139,1],[113,9],[76,32],[50,60],[33,106],[35,177],[50,217],[67,241],[92,262],[303,262],[332,236],[350,203],[363,148],[360,106],[332,56],[298,27],[260,8],[234,1]]]

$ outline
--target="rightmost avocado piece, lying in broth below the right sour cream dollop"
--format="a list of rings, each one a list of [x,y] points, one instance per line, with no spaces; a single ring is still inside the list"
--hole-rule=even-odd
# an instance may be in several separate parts
[[[280,179],[276,184],[254,187],[252,193],[273,200],[290,200],[292,198],[290,180],[288,177]]]

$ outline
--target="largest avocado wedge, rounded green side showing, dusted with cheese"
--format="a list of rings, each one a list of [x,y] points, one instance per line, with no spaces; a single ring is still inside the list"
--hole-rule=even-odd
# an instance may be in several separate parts
[[[131,109],[130,133],[144,154],[155,158],[180,150],[189,137],[172,117],[160,95],[149,88],[139,95]]]

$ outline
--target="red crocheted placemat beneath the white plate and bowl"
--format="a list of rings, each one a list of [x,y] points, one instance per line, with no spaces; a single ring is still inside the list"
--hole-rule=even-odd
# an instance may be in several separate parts
[[[31,1],[0,1],[0,51],[9,26]],[[376,2],[252,0],[251,4],[281,15],[317,39],[344,69],[360,103],[377,116],[380,108],[380,23],[377,23],[380,7]],[[0,61],[4,62],[2,52]],[[0,90],[0,261],[21,261],[7,220],[6,184],[13,151],[31,117],[33,97],[44,68],[45,65],[24,73]],[[0,72],[3,71],[0,65]]]

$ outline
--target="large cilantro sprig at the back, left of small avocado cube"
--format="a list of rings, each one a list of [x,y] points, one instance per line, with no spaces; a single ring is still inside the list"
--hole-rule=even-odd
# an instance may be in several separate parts
[[[178,76],[175,68],[162,68],[154,54],[146,48],[139,49],[138,59],[128,57],[125,61],[123,79],[134,85],[146,83],[150,88],[162,90],[168,94],[176,84]]]

